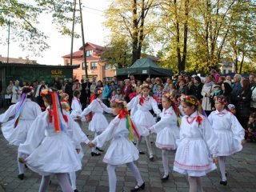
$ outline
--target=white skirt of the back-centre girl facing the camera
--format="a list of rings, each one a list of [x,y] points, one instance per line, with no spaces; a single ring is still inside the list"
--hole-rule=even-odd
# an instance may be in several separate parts
[[[156,123],[150,111],[137,110],[132,118],[140,136],[148,136],[149,128]]]

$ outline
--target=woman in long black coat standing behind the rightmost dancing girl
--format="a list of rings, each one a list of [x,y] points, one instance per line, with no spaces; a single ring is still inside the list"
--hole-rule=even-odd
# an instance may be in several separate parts
[[[238,121],[241,123],[244,129],[247,129],[247,122],[250,116],[250,82],[248,79],[242,80],[242,90],[236,98],[234,98],[237,103],[235,108],[237,111]]]

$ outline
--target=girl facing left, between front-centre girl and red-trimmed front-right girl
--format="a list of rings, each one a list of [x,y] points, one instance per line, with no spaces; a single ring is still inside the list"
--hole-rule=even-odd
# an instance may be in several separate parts
[[[164,175],[162,181],[169,179],[169,163],[168,163],[168,150],[176,149],[176,139],[178,138],[178,108],[174,106],[171,101],[169,93],[164,94],[162,97],[162,113],[160,114],[161,120],[154,126],[150,127],[150,132],[157,133],[155,146],[162,149],[162,165]]]

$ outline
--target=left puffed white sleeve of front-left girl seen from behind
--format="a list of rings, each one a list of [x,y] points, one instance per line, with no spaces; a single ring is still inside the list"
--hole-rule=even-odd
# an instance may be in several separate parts
[[[42,140],[46,137],[45,130],[48,126],[46,120],[47,115],[39,115],[38,118],[34,120],[30,129],[26,135],[26,141],[18,146],[18,152],[21,154],[32,154],[32,152],[40,145]]]

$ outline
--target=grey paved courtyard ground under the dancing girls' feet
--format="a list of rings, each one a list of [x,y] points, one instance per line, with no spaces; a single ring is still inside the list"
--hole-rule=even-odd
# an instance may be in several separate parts
[[[112,117],[106,115],[110,121]],[[87,125],[86,125],[87,127]],[[86,130],[87,132],[87,130]],[[90,134],[90,139],[93,134]],[[152,137],[154,141],[155,135]],[[152,143],[154,146],[154,143]],[[108,143],[104,146],[104,150]],[[140,155],[136,164],[141,171],[142,178],[146,182],[146,192],[188,192],[189,186],[185,176],[171,171],[170,179],[161,182],[163,174],[162,153],[155,146],[154,162],[150,162],[147,155]],[[106,164],[102,162],[104,155],[91,157],[90,148],[83,145],[85,156],[82,160],[82,170],[77,173],[77,186],[83,192],[105,192],[108,191],[108,176]],[[142,140],[142,150],[146,151],[146,144]],[[104,153],[103,153],[104,154]],[[174,151],[170,152],[170,170],[173,167]],[[36,192],[40,184],[40,176],[28,169],[25,170],[26,178],[21,181],[17,178],[17,148],[8,145],[0,133],[0,192]],[[228,185],[220,186],[220,174],[215,170],[202,178],[205,192],[232,191],[232,192],[253,192],[256,191],[256,143],[247,143],[242,152],[227,158]],[[119,166],[116,169],[118,175],[117,192],[130,191],[135,186],[135,179],[126,166]],[[2,188],[1,188],[2,186]],[[61,191],[56,178],[48,191]]]

